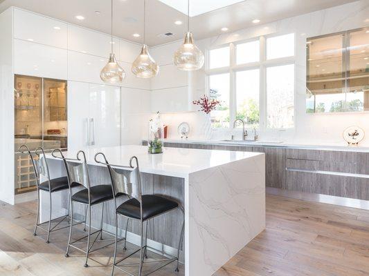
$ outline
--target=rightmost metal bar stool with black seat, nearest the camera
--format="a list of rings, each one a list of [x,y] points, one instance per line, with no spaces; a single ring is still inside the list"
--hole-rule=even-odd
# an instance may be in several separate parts
[[[98,156],[102,156],[104,158],[104,162],[98,161]],[[132,161],[136,161],[136,166],[133,166]],[[175,201],[172,201],[170,199],[166,199],[165,197],[161,197],[159,195],[142,195],[142,186],[141,186],[141,175],[140,170],[138,168],[138,159],[137,157],[131,157],[129,159],[129,166],[118,166],[109,164],[107,161],[107,158],[102,152],[98,152],[95,155],[95,161],[99,164],[105,164],[107,168],[109,169],[110,177],[111,177],[111,185],[114,190],[114,194],[117,193],[124,193],[126,195],[129,195],[132,197],[131,199],[123,202],[123,204],[120,204],[120,206],[116,206],[116,200],[114,198],[114,203],[116,206],[116,215],[115,215],[115,223],[116,223],[116,243],[114,248],[114,262],[113,262],[113,268],[111,270],[111,275],[114,275],[114,268],[118,268],[119,270],[122,270],[124,273],[127,273],[129,275],[132,275],[132,273],[129,273],[127,270],[124,270],[122,266],[130,266],[132,264],[139,264],[138,267],[138,276],[142,275],[143,270],[143,264],[145,263],[143,261],[146,251],[147,251],[147,222],[159,215],[163,215],[164,213],[170,212],[171,210],[180,210],[183,215],[183,224],[181,226],[181,234],[179,237],[179,246],[178,246],[178,253],[177,257],[171,257],[169,259],[159,259],[150,261],[150,263],[154,262],[168,262],[167,264],[164,264],[163,266],[160,266],[159,268],[156,268],[155,270],[151,271],[150,273],[147,273],[146,275],[149,275],[151,273],[154,273],[156,270],[159,270],[163,268],[164,266],[167,266],[168,264],[171,264],[172,262],[177,261],[177,268],[176,271],[179,271],[179,252],[181,248],[182,238],[183,238],[183,228],[184,228],[184,211],[183,208],[179,206],[179,204]],[[118,262],[116,261],[116,253],[117,253],[117,244],[118,244],[118,215],[127,217],[127,219],[134,219],[136,221],[140,221],[140,229],[141,229],[141,246],[138,250],[134,251],[134,253],[128,255],[127,257],[123,257],[123,259],[120,259]],[[143,245],[143,224],[146,222],[146,242],[145,245]],[[126,233],[127,235],[127,228]],[[127,237],[127,236],[126,236]],[[125,240],[126,241],[126,240]],[[123,262],[128,257],[131,257],[132,255],[138,253],[140,251],[140,262],[137,263],[130,263],[130,264],[120,264],[120,262]]]

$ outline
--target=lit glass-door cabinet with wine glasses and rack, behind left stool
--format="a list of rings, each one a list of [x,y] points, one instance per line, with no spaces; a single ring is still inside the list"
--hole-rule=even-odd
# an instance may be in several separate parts
[[[19,152],[26,145],[51,152],[68,147],[67,82],[15,75],[15,194],[36,189],[30,157]],[[35,156],[37,158],[37,156]]]

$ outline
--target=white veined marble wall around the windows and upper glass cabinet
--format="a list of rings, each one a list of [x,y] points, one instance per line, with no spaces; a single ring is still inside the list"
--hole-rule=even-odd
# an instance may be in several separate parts
[[[321,34],[330,34],[343,30],[362,28],[369,26],[369,1],[361,0],[337,6],[326,10],[303,14],[298,17],[283,19],[273,23],[246,28],[237,32],[211,37],[196,41],[197,46],[204,52],[208,48],[221,46],[226,43],[251,39],[268,34],[296,33],[296,97],[295,97],[295,128],[291,131],[275,131],[260,133],[261,139],[278,139],[294,143],[312,144],[344,144],[342,132],[345,128],[358,125],[363,128],[367,137],[362,142],[363,146],[369,146],[369,120],[368,112],[343,113],[343,114],[307,114],[305,112],[305,81],[306,81],[306,38]],[[162,59],[156,53],[171,57],[177,43],[169,43],[154,47],[152,56],[154,59]],[[167,61],[169,62],[169,60]],[[204,72],[199,72],[203,74]],[[200,78],[201,79],[201,78]],[[203,80],[202,80],[203,81]],[[180,84],[181,82],[179,82]],[[201,85],[200,85],[201,87]],[[206,88],[202,85],[204,92]],[[188,121],[192,127],[190,135],[193,139],[201,138],[201,120],[203,117],[197,113],[173,113],[163,114],[163,120],[170,125],[170,138],[177,138],[177,126],[182,121]],[[212,138],[229,138],[233,131],[213,131]],[[235,132],[240,135],[240,132]]]

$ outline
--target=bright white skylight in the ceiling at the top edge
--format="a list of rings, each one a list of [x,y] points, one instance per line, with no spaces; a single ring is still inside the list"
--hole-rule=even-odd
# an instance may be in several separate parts
[[[183,0],[159,0],[183,14],[187,14],[187,1]],[[244,0],[190,0],[190,17],[211,12],[219,8],[240,3]]]

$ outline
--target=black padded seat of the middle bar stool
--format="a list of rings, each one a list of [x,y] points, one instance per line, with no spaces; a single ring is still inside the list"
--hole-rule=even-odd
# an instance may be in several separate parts
[[[114,198],[110,185],[97,185],[90,187],[90,197],[91,205]],[[89,204],[89,191],[87,188],[80,190],[72,195],[72,200]]]

